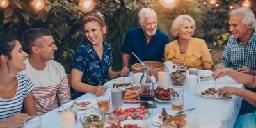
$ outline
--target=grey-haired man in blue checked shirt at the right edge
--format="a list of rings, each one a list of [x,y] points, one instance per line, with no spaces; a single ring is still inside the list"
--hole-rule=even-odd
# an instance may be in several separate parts
[[[232,68],[239,72],[256,75],[256,19],[249,8],[238,8],[230,12],[229,29],[232,36],[223,52],[223,61],[214,67]],[[256,92],[256,86],[246,86],[246,89]],[[254,106],[243,100],[239,115],[253,113]]]

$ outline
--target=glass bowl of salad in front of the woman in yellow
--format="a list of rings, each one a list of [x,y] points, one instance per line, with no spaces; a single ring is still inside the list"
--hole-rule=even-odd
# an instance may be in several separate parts
[[[170,79],[175,86],[181,86],[185,83],[186,80],[186,72],[176,70],[175,72],[172,72],[169,74]]]

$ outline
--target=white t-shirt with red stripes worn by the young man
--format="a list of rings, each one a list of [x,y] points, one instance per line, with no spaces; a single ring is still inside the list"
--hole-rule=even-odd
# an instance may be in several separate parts
[[[63,100],[70,100],[70,86],[63,66],[50,60],[46,62],[44,70],[33,68],[28,59],[24,61],[26,70],[22,74],[35,84],[33,99],[38,115],[42,115],[58,108]]]

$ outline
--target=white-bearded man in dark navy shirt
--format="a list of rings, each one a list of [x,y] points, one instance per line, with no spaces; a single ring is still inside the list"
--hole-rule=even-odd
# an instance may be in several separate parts
[[[132,64],[139,62],[131,52],[134,52],[141,61],[164,61],[164,46],[170,42],[168,35],[157,29],[154,10],[141,8],[138,17],[140,27],[128,31],[122,46],[123,67],[128,67],[130,56]]]

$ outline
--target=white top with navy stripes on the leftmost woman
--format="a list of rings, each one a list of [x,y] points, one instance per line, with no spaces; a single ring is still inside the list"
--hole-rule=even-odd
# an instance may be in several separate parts
[[[23,100],[35,87],[30,79],[22,74],[16,74],[18,87],[16,95],[11,99],[0,97],[0,120],[20,113]]]

